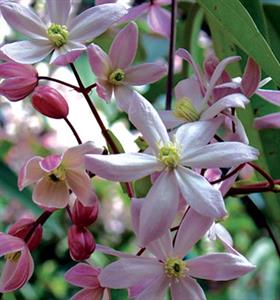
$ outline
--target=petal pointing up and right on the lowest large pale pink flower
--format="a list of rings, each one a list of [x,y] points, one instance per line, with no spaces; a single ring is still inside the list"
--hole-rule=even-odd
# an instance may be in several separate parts
[[[184,257],[209,230],[213,223],[213,218],[202,216],[194,209],[190,208],[180,225],[174,253],[178,257]]]

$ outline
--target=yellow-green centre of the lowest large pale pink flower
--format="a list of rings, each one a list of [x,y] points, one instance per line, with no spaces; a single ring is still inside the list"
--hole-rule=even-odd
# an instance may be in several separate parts
[[[167,277],[178,280],[186,276],[188,270],[186,262],[178,257],[169,257],[165,264],[164,270]]]

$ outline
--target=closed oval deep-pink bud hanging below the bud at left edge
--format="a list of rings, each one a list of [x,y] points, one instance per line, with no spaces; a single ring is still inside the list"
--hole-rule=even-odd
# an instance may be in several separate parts
[[[50,86],[36,87],[32,95],[33,107],[41,114],[54,118],[66,118],[69,113],[69,107],[64,97]]]

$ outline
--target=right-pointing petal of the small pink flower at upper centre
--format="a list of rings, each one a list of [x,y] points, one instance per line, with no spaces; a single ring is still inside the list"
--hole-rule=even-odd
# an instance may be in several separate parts
[[[145,63],[130,66],[125,69],[124,84],[143,85],[161,79],[167,72],[167,67],[162,63]]]

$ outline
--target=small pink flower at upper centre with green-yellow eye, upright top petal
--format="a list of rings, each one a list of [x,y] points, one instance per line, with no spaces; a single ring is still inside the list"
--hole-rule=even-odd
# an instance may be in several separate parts
[[[166,66],[159,63],[145,63],[131,66],[138,47],[138,28],[128,24],[115,37],[109,55],[99,46],[88,47],[92,71],[97,76],[97,93],[104,100],[110,100],[114,91],[119,107],[128,111],[129,89],[159,80],[166,73]]]

